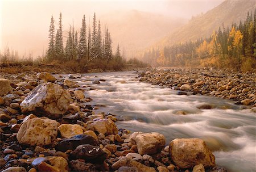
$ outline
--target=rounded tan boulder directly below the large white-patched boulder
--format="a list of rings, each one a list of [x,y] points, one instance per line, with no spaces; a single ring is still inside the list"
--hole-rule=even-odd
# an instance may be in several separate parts
[[[20,144],[44,146],[52,144],[60,124],[48,118],[33,118],[25,121],[17,133]]]

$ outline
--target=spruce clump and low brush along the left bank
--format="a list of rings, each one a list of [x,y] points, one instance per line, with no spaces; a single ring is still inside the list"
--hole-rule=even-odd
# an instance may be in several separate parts
[[[61,64],[80,72],[86,72],[88,69],[121,70],[125,65],[130,64],[138,67],[147,66],[137,59],[126,61],[121,56],[119,44],[113,53],[108,27],[104,28],[102,34],[101,23],[100,20],[96,21],[95,13],[92,28],[90,28],[90,24],[87,26],[84,15],[80,32],[75,30],[73,24],[70,25],[65,41],[63,39],[62,14],[59,15],[57,28],[55,27],[55,20],[51,16],[48,39],[47,52],[41,57],[33,58],[32,54],[28,53],[23,54],[23,57],[20,58],[18,52],[10,51],[9,47],[6,47],[4,52],[0,52],[0,62],[25,62],[31,65]]]

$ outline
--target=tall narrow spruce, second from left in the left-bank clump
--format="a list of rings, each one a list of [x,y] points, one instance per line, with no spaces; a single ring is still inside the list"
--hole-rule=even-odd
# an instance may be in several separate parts
[[[56,33],[56,39],[55,39],[55,53],[56,53],[56,58],[61,60],[64,56],[63,52],[63,31],[62,31],[62,14],[60,13],[60,18],[59,18],[59,28]]]

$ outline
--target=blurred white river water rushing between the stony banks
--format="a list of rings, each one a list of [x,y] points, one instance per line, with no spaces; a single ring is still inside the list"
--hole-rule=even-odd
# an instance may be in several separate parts
[[[95,77],[97,75],[97,78]],[[88,104],[97,112],[118,116],[118,128],[159,132],[166,144],[175,138],[203,139],[228,171],[256,171],[256,114],[232,101],[203,95],[176,95],[177,91],[139,82],[134,72],[85,74],[76,79],[85,89]],[[93,79],[105,79],[93,85]],[[211,110],[196,106],[210,103]],[[187,115],[178,115],[183,111]]]

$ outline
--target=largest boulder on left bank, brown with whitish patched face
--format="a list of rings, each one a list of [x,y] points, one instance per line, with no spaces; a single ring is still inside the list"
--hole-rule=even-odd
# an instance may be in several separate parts
[[[67,112],[71,97],[55,83],[41,83],[20,104],[22,113],[34,113],[56,119]]]

